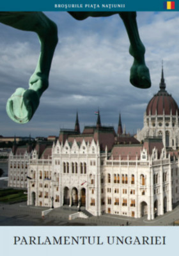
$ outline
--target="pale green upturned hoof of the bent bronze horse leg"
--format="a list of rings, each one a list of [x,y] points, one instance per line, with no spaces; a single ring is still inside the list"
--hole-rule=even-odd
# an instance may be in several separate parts
[[[38,107],[38,95],[33,90],[17,88],[6,104],[8,116],[18,124],[26,124],[31,120]]]

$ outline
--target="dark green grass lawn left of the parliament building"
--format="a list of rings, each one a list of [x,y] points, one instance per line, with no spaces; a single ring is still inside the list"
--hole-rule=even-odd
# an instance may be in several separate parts
[[[24,190],[19,189],[1,189],[0,190],[0,202],[3,203],[17,203],[27,200],[27,195],[24,194]]]

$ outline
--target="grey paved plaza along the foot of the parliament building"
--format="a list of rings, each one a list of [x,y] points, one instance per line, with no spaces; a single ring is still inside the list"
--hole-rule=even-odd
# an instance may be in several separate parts
[[[179,219],[179,205],[171,212],[157,216],[155,220],[148,221],[147,216],[135,219],[125,216],[104,214],[102,216],[91,216],[88,219],[77,218],[68,220],[69,215],[77,212],[75,207],[59,207],[52,209],[49,214],[42,218],[42,211],[47,207],[35,207],[27,205],[26,202],[19,204],[0,204],[1,226],[168,226],[174,225]]]

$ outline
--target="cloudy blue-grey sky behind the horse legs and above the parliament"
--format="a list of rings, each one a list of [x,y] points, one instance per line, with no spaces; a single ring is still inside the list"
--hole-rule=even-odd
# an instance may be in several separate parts
[[[78,111],[81,131],[95,125],[100,109],[102,125],[118,125],[121,113],[127,132],[143,127],[148,101],[159,90],[161,63],[167,91],[179,104],[179,13],[138,12],[137,23],[146,47],[152,87],[135,88],[129,82],[132,56],[118,15],[77,21],[66,12],[47,12],[58,25],[59,42],[52,61],[50,86],[28,124],[15,124],[6,114],[6,100],[18,87],[28,88],[40,44],[35,33],[0,24],[0,115],[3,136],[49,136],[74,128]]]

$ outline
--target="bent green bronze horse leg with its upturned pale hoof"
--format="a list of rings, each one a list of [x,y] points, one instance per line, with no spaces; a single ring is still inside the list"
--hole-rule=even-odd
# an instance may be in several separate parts
[[[29,89],[17,88],[8,99],[6,111],[13,121],[24,124],[31,120],[42,93],[49,86],[51,62],[58,43],[57,27],[40,12],[0,13],[0,22],[24,31],[34,31],[40,40],[40,56],[35,72],[29,79]]]

